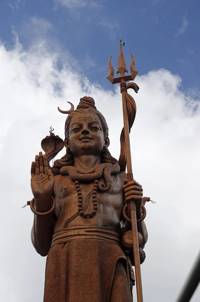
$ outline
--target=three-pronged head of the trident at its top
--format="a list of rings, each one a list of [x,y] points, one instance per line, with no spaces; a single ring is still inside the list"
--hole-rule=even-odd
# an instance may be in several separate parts
[[[123,46],[124,45],[125,45],[125,43],[123,43]],[[117,74],[120,73],[120,77],[118,77],[118,78],[114,77],[114,68],[113,68],[113,65],[111,62],[111,58],[112,58],[112,56],[109,58],[109,62],[108,62],[109,74],[108,74],[107,79],[112,84],[121,83],[122,81],[123,82],[133,81],[136,78],[138,71],[135,69],[135,58],[132,53],[131,53],[131,65],[130,65],[131,74],[125,75],[125,72],[128,72],[128,70],[126,69],[126,62],[125,62],[125,58],[124,58],[124,54],[123,54],[123,50],[122,50],[122,39],[120,39],[120,53],[119,53],[118,71],[117,71]]]

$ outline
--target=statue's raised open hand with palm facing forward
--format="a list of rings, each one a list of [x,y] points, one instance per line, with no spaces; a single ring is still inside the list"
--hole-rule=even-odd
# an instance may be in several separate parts
[[[46,156],[40,152],[31,165],[31,189],[35,199],[51,198],[54,182],[51,169],[47,166]]]

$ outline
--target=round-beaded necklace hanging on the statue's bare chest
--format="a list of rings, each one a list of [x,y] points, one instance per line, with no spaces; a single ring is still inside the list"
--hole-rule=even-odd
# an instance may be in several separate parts
[[[76,180],[74,182],[74,185],[75,185],[77,196],[78,196],[78,212],[79,212],[79,214],[84,218],[93,217],[93,215],[96,214],[96,211],[98,209],[97,199],[96,199],[96,191],[98,190],[98,180],[94,180],[94,187],[93,187],[93,191],[92,191],[92,195],[91,195],[92,202],[93,202],[93,209],[90,212],[84,212],[83,209],[82,209],[82,193],[81,193],[81,190],[80,190],[79,181]]]

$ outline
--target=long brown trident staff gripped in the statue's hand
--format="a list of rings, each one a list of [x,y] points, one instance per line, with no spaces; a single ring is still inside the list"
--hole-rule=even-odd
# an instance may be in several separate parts
[[[135,101],[127,93],[127,89],[133,88],[135,90],[135,92],[137,92],[139,89],[139,87],[135,83],[129,83],[128,85],[126,85],[126,82],[134,80],[138,73],[138,71],[135,69],[135,59],[134,59],[134,56],[132,53],[131,53],[131,56],[132,56],[132,61],[131,61],[131,66],[130,66],[131,75],[125,75],[125,72],[128,72],[128,70],[126,69],[126,62],[125,62],[124,54],[122,51],[122,40],[120,39],[120,54],[119,54],[118,71],[117,71],[117,73],[120,73],[120,77],[114,78],[114,68],[111,63],[112,56],[109,59],[109,75],[107,77],[107,79],[112,84],[121,83],[120,88],[121,88],[121,93],[122,93],[123,118],[124,118],[124,129],[123,129],[122,135],[124,135],[124,142],[125,142],[124,168],[126,168],[126,163],[127,163],[127,174],[128,174],[129,182],[133,180],[129,133],[130,133],[130,128],[134,122],[135,116],[132,117],[132,121],[131,121],[130,114],[128,112],[128,107],[131,108],[131,103],[133,103],[133,102],[134,102],[134,104],[132,104],[132,105],[134,107]],[[135,106],[135,111],[136,111],[136,106]],[[130,214],[131,214],[131,219],[129,218],[127,220],[131,221],[131,227],[132,227],[137,300],[138,300],[138,302],[143,302],[136,207],[137,207],[136,203],[133,200],[131,200],[129,202],[129,210],[130,210]],[[128,217],[126,217],[126,218],[128,218]]]

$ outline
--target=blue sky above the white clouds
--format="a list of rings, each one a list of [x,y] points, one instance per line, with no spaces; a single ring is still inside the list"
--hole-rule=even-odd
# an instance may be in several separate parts
[[[107,62],[117,70],[120,33],[136,58],[139,74],[165,68],[182,78],[182,89],[199,89],[198,0],[10,0],[0,4],[0,38],[9,46],[13,32],[26,48],[36,34],[32,18],[45,39],[69,51],[89,80],[109,88]],[[75,66],[75,67],[77,67]]]

